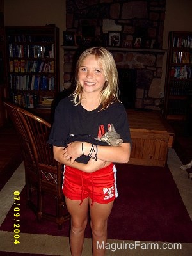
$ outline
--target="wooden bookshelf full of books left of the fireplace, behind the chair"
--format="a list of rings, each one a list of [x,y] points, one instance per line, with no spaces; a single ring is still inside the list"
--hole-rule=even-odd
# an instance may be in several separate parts
[[[5,27],[9,98],[24,108],[50,109],[59,92],[59,29]]]

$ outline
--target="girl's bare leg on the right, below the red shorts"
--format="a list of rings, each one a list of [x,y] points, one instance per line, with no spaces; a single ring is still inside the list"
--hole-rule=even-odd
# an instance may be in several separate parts
[[[91,202],[92,200],[90,200],[90,204]],[[108,204],[94,202],[93,205],[90,205],[93,256],[103,256],[105,253],[104,248],[108,235],[108,217],[112,207],[113,202]]]

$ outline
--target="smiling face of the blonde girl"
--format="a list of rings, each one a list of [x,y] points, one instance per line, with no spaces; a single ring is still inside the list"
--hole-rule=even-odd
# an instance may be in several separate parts
[[[95,55],[90,55],[84,59],[79,69],[78,80],[84,92],[101,92],[106,77]]]

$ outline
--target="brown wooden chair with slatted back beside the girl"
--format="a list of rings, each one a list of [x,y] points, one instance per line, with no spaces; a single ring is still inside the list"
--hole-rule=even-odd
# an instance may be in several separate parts
[[[38,191],[36,210],[38,220],[46,218],[54,221],[61,229],[63,223],[69,219],[69,214],[61,190],[63,164],[54,160],[52,147],[47,143],[51,124],[15,104],[4,102],[4,105],[20,136],[28,204],[31,191],[35,187]],[[45,209],[44,198],[47,195],[49,195],[49,200],[52,197],[55,201],[55,209],[51,209],[52,211],[49,211],[49,207]]]

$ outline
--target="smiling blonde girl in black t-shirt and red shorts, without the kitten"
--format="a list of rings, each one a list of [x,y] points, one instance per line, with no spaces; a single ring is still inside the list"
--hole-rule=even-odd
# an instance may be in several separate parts
[[[72,256],[82,253],[88,211],[93,255],[99,256],[104,255],[108,217],[118,196],[113,162],[129,161],[131,137],[127,113],[118,100],[118,73],[111,53],[104,47],[86,49],[77,61],[75,80],[74,93],[56,107],[48,142],[56,161],[64,164]],[[111,124],[123,140],[117,147],[99,141]]]

